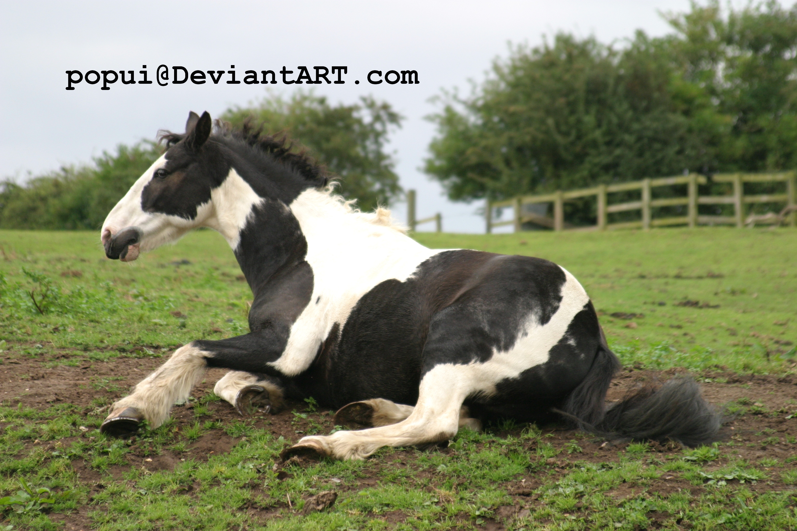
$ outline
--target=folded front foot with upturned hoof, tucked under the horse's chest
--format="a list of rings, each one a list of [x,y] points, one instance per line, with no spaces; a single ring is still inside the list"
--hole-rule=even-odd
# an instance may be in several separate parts
[[[244,416],[258,409],[275,413],[284,405],[282,389],[263,374],[230,371],[216,382],[213,392],[233,404]]]

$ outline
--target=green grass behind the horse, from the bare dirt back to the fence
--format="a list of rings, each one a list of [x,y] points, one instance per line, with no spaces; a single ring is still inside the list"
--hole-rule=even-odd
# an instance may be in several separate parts
[[[797,357],[795,230],[416,237],[434,248],[540,256],[566,267],[626,364],[777,372]],[[106,260],[95,232],[0,231],[0,248],[0,339],[32,344],[30,355],[49,344],[98,360],[159,357],[191,339],[247,328],[251,293],[215,232],[190,233],[132,264]],[[677,306],[687,300],[718,307]],[[637,315],[612,317],[618,313]]]

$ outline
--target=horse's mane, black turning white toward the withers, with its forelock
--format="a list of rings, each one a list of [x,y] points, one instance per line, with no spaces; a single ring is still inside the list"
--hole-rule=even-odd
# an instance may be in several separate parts
[[[254,125],[252,118],[244,120],[240,128],[233,127],[229,122],[215,120],[214,136],[234,139],[243,142],[261,152],[270,154],[278,162],[289,166],[309,182],[316,183],[316,189],[328,197],[330,204],[335,204],[345,212],[355,215],[373,225],[382,225],[394,228],[398,232],[406,232],[406,227],[396,223],[391,217],[391,211],[381,206],[372,213],[364,213],[357,209],[356,200],[347,200],[335,192],[339,183],[331,180],[325,166],[318,164],[308,153],[301,149],[298,153],[292,151],[293,143],[285,133],[266,135],[263,133],[263,124]],[[158,131],[158,142],[165,142],[167,149],[185,138],[185,133],[171,131]]]

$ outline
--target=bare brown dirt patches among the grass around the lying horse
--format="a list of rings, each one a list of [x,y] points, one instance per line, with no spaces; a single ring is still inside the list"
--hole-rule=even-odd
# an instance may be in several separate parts
[[[51,350],[47,355],[39,357],[24,357],[15,355],[6,357],[5,363],[0,365],[0,376],[2,376],[2,400],[6,404],[23,404],[37,410],[45,410],[53,404],[74,404],[78,408],[83,408],[84,414],[104,416],[104,406],[113,400],[124,396],[133,385],[146,377],[151,370],[161,365],[168,357],[165,353],[161,358],[135,358],[135,357],[116,357],[109,361],[91,361],[82,359],[76,366],[57,365],[52,366],[57,361],[65,359],[73,360],[76,351]],[[663,382],[673,377],[679,371],[669,370],[656,372],[648,370],[638,370],[626,368],[614,378],[610,391],[607,396],[608,401],[621,400],[627,392],[633,391],[641,385],[650,382]],[[194,389],[193,396],[204,396],[210,392],[215,381],[222,377],[225,371],[221,369],[210,369],[206,377]],[[783,485],[779,474],[785,470],[791,470],[793,465],[784,464],[785,459],[797,454],[797,418],[787,419],[791,412],[797,410],[795,396],[797,396],[797,377],[772,377],[756,375],[739,375],[726,373],[718,370],[715,373],[704,373],[699,378],[703,394],[707,400],[718,407],[723,404],[746,404],[747,411],[743,415],[736,416],[728,420],[722,435],[726,442],[733,442],[732,447],[723,447],[723,457],[716,462],[705,465],[703,470],[710,472],[724,467],[730,459],[747,459],[748,462],[761,470],[765,470],[770,479],[760,481],[755,484],[748,484],[748,488],[754,492],[764,492],[766,490],[784,490],[792,488]],[[235,412],[234,408],[226,402],[210,402],[204,404],[206,414],[197,416],[194,411],[195,401],[190,401],[172,409],[174,419],[174,429],[185,432],[195,428],[196,425],[206,423],[206,421],[221,421],[225,427],[235,421],[245,420],[253,424],[255,428],[262,428],[270,431],[276,437],[282,436],[286,441],[286,446],[295,443],[300,437],[312,433],[328,433],[332,430],[332,416],[328,411],[320,411],[307,415],[307,418],[296,416],[293,411],[304,412],[306,404],[302,402],[289,402],[284,411],[276,415],[257,415],[244,419]],[[218,426],[217,425],[217,426]],[[0,426],[2,428],[2,426]],[[494,429],[494,428],[493,428]],[[498,431],[497,435],[520,435],[520,429],[511,431]],[[543,428],[544,442],[552,444],[560,451],[556,458],[548,459],[544,463],[547,474],[540,474],[532,470],[525,474],[519,474],[511,482],[502,485],[514,504],[512,506],[502,506],[497,508],[492,518],[485,518],[483,523],[477,525],[479,529],[504,529],[504,522],[512,518],[523,517],[524,510],[528,507],[540,504],[542,501],[534,494],[534,491],[548,479],[556,479],[568,474],[573,463],[613,463],[620,459],[623,450],[627,446],[625,443],[607,443],[604,439],[584,436],[579,431],[562,428],[552,425]],[[84,432],[80,437],[90,437],[90,431]],[[32,445],[41,444],[48,450],[55,450],[56,444],[69,446],[73,437],[60,439],[60,441],[38,443],[31,441],[26,443],[28,451]],[[127,465],[113,465],[105,470],[96,470],[90,463],[82,459],[75,459],[72,462],[74,470],[80,478],[80,482],[90,485],[92,493],[99,492],[103,486],[103,478],[109,475],[112,478],[124,478],[126,471],[132,467],[144,468],[148,471],[174,470],[187,460],[194,459],[206,461],[214,454],[224,454],[229,452],[242,437],[230,435],[225,429],[212,428],[202,431],[198,438],[193,439],[181,450],[171,447],[164,447],[160,453],[148,446],[149,442],[144,439],[131,439],[130,451],[125,455]],[[579,451],[573,451],[573,445],[577,445]],[[536,459],[536,443],[529,444],[526,450],[529,453],[530,461]],[[430,451],[451,454],[451,448],[434,448]],[[658,444],[650,445],[650,452],[647,456],[654,455],[657,459],[680,459],[681,448],[677,444]],[[346,484],[329,480],[329,489],[338,492],[360,490],[364,488],[379,487],[382,481],[379,474],[385,467],[406,467],[412,471],[413,477],[418,481],[427,482],[430,491],[442,488],[443,482],[449,479],[445,473],[428,468],[422,469],[416,463],[418,452],[414,449],[399,449],[391,458],[391,463],[379,463],[374,460],[374,466],[363,470],[361,477],[356,482]],[[775,461],[776,460],[776,461]],[[282,471],[285,477],[289,477],[289,472]],[[550,474],[550,475],[548,475]],[[186,485],[176,494],[193,495],[192,491],[197,486]],[[253,492],[257,490],[253,486]],[[453,486],[456,489],[456,485]],[[652,479],[645,486],[638,484],[621,484],[607,492],[608,496],[617,501],[637,496],[642,491],[658,492],[662,495],[675,493],[678,491],[689,491],[699,494],[702,486],[695,486],[687,479],[683,478],[681,472],[671,472],[662,474],[662,477]],[[92,494],[93,495],[93,494]],[[257,517],[258,521],[267,521],[277,517],[281,506],[260,506],[257,502],[249,502],[241,507],[242,511]],[[63,529],[89,529],[90,521],[86,516],[87,509],[81,507],[73,513],[59,515],[53,514],[53,520],[63,521]],[[406,513],[402,511],[391,511],[375,515],[394,526],[406,520]],[[654,522],[665,521],[669,515],[665,513],[654,514],[650,517]],[[469,522],[473,525],[473,522]],[[655,523],[654,528],[658,527]]]

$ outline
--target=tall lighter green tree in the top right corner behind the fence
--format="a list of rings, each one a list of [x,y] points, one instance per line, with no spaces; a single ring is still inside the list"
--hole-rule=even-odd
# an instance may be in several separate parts
[[[712,0],[666,18],[678,71],[725,119],[723,135],[706,143],[716,154],[710,170],[797,166],[797,5],[769,0],[724,15]]]

